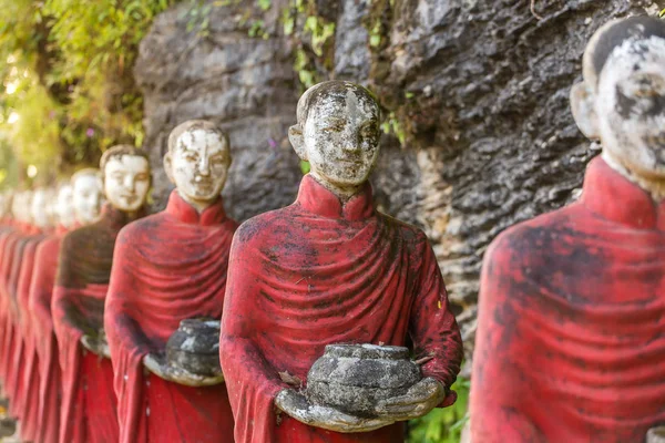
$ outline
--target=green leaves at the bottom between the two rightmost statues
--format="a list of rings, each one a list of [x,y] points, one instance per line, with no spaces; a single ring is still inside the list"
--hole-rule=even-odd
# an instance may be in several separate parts
[[[458,443],[462,429],[469,420],[469,380],[458,380],[452,389],[458,393],[457,402],[444,409],[434,409],[422,419],[409,422],[408,443]]]

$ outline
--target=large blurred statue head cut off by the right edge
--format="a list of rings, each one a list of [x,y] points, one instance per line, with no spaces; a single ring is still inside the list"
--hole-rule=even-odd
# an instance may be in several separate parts
[[[603,146],[611,165],[665,179],[665,21],[612,21],[591,39],[584,82],[571,92],[580,130]]]

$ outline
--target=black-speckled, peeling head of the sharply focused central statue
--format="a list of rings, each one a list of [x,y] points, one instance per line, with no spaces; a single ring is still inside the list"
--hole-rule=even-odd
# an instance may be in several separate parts
[[[321,184],[357,188],[377,162],[379,119],[379,105],[367,89],[345,81],[323,82],[298,101],[297,123],[288,137]]]

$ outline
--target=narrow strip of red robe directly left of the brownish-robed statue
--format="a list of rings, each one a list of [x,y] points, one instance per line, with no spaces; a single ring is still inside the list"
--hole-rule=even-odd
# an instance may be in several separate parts
[[[29,306],[34,326],[33,337],[39,360],[39,410],[35,442],[58,443],[62,381],[58,361],[58,342],[51,317],[51,297],[58,270],[58,253],[65,234],[59,227],[54,235],[37,248],[34,270],[30,284]]]

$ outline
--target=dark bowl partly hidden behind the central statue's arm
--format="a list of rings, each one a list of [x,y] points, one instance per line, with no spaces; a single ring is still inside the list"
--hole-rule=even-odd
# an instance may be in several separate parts
[[[222,373],[219,365],[219,321],[182,320],[166,342],[166,362],[205,377]]]

